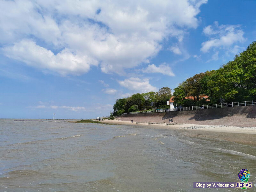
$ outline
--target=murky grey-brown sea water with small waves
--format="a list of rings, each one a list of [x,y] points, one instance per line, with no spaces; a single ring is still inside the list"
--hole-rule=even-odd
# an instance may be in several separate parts
[[[255,147],[132,126],[0,119],[0,191],[236,191],[193,182],[243,168],[256,191]]]

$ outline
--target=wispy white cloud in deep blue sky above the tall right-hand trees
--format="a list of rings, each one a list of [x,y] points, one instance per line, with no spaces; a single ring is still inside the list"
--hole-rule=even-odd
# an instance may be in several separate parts
[[[202,43],[202,52],[209,52],[212,48],[230,47],[231,45],[244,42],[244,31],[240,25],[219,25],[217,21],[214,25],[204,28],[204,34],[210,36],[210,40]]]

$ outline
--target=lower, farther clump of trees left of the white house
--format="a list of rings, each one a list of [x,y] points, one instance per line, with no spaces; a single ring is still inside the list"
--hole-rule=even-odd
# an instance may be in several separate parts
[[[158,92],[136,93],[131,97],[117,99],[111,116],[121,115],[124,112],[149,110],[153,108],[169,108],[166,101],[172,97],[172,89],[162,87]]]

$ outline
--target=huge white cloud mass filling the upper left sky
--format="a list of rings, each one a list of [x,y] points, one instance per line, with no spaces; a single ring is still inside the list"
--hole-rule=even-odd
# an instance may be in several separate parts
[[[154,57],[164,38],[182,41],[206,2],[1,1],[0,43],[31,67],[79,75],[100,63],[102,72],[121,75]]]

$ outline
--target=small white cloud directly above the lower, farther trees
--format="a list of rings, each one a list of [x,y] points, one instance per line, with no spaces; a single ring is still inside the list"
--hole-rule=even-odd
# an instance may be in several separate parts
[[[157,88],[149,84],[148,79],[140,79],[138,77],[130,77],[124,81],[118,81],[118,83],[130,90],[135,90],[140,93],[157,91]]]

